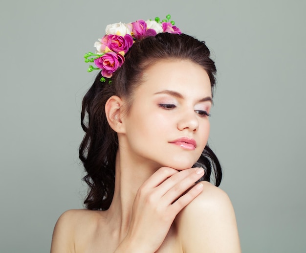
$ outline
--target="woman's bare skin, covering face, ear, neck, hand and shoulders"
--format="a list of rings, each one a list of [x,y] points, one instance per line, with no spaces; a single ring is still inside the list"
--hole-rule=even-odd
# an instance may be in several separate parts
[[[240,253],[228,196],[208,182],[195,184],[204,171],[191,168],[209,134],[207,73],[188,61],[161,61],[145,77],[128,114],[117,96],[105,107],[119,140],[109,209],[66,211],[51,253]],[[181,137],[197,144],[173,143]]]

